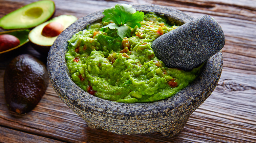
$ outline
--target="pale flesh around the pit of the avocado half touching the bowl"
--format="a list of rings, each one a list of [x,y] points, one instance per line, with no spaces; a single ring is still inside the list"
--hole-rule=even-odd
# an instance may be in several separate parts
[[[55,37],[45,37],[42,35],[42,30],[45,25],[51,23],[51,22],[58,22],[63,25],[64,29],[66,29],[69,25],[74,23],[77,20],[77,18],[73,15],[60,15],[58,17],[55,17],[43,24],[40,24],[36,26],[34,29],[32,29],[29,33],[29,40],[40,46],[51,46],[56,40],[58,36]]]

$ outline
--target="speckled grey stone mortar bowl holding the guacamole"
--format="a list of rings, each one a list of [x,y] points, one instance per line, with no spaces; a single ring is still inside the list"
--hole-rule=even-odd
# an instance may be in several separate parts
[[[173,8],[156,5],[134,5],[139,11],[165,14],[171,23],[182,25],[193,17]],[[117,134],[160,132],[172,136],[179,133],[189,116],[216,87],[222,72],[222,52],[210,57],[199,77],[173,97],[152,103],[117,103],[95,97],[78,87],[70,78],[65,54],[67,40],[73,34],[103,18],[103,10],[80,18],[64,30],[48,54],[47,70],[59,98],[82,117],[91,128],[102,128]]]

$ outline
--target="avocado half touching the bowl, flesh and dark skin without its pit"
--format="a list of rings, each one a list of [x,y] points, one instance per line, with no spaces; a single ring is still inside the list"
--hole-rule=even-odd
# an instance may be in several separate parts
[[[50,23],[57,22],[59,24],[62,24],[63,30],[64,30],[69,25],[74,23],[76,20],[77,20],[77,18],[73,15],[60,15],[58,17],[55,17],[55,18],[43,23],[43,24],[36,26],[29,33],[29,40],[30,40],[32,47],[39,53],[48,54],[48,52],[49,52],[51,46],[53,45],[54,40],[56,40],[57,36],[54,36],[54,37],[43,36],[42,31],[43,31],[44,27]]]

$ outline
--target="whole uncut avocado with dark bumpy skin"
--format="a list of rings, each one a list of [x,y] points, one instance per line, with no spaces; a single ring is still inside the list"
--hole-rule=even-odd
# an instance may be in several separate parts
[[[19,55],[7,66],[4,90],[7,106],[17,114],[31,111],[48,86],[46,66],[31,55]]]

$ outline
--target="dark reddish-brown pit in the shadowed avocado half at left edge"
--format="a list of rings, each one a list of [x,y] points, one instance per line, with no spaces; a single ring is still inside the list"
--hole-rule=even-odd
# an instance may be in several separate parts
[[[10,34],[0,35],[0,52],[6,51],[20,44],[20,40]]]

